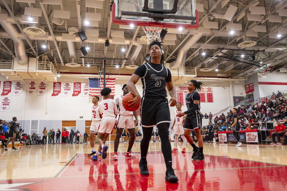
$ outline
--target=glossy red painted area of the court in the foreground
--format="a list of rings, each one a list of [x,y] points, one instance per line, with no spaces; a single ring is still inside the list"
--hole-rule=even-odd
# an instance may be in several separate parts
[[[136,153],[138,156],[139,153]],[[0,181],[1,188],[15,190],[281,190],[287,187],[287,166],[205,155],[193,161],[192,153],[173,154],[178,183],[165,181],[161,152],[149,152],[149,176],[139,173],[139,159],[118,161],[108,155],[92,161],[77,154],[54,178]],[[24,172],[21,172],[24,173]],[[19,184],[20,183],[20,184]],[[4,190],[4,189],[3,189]]]

